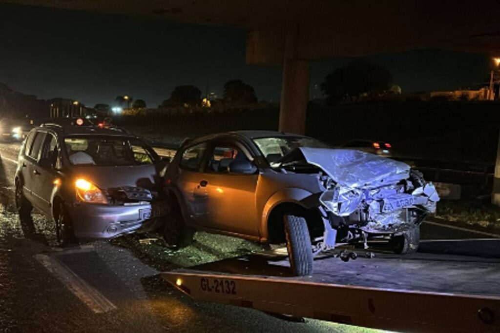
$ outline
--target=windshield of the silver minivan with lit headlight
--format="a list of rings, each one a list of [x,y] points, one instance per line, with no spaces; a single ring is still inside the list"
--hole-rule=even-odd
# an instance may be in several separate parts
[[[106,136],[71,136],[64,145],[73,165],[142,165],[157,160],[154,151],[142,141]]]

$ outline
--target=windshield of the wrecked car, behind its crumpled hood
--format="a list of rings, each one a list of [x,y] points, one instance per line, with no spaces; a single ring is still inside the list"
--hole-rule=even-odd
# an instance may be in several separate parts
[[[295,148],[329,148],[328,145],[305,136],[278,136],[253,139],[269,164],[275,163]]]

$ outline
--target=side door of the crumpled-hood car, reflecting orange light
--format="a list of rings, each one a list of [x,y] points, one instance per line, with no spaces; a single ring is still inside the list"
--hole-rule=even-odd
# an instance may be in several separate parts
[[[234,160],[253,157],[241,143],[213,142],[205,159],[203,173],[199,175],[199,188],[195,192],[204,196],[205,227],[224,232],[258,237],[255,188],[258,172],[240,174],[229,172]]]

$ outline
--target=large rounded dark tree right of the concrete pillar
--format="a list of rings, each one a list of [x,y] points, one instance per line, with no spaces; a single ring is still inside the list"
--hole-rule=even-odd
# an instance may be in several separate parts
[[[333,105],[342,100],[356,101],[361,94],[376,96],[392,83],[390,72],[369,62],[354,60],[335,69],[321,83],[326,103]]]

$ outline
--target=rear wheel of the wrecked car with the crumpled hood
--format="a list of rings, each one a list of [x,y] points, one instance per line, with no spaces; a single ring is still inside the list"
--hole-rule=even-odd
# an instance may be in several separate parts
[[[171,212],[163,223],[163,239],[171,249],[181,249],[192,243],[194,231],[187,227],[178,212]]]

